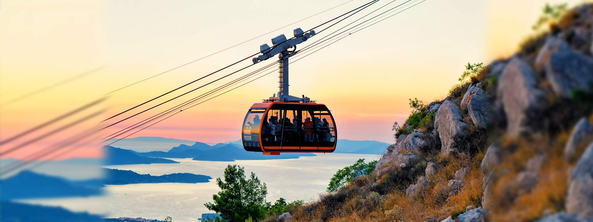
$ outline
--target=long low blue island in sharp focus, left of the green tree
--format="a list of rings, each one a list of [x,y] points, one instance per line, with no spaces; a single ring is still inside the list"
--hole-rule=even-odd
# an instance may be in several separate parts
[[[132,170],[105,169],[106,178],[104,184],[152,184],[152,183],[205,183],[212,179],[210,176],[197,175],[193,173],[173,173],[161,176],[139,174]]]

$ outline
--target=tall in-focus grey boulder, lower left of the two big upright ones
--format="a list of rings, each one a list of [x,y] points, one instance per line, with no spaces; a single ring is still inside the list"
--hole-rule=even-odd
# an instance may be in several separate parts
[[[469,133],[469,127],[461,121],[461,112],[451,101],[444,101],[435,115],[435,129],[441,139],[441,153],[457,151],[457,141]]]

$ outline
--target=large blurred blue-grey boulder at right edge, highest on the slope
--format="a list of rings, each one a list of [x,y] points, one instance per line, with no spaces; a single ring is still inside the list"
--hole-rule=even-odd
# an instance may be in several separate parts
[[[554,92],[566,98],[572,98],[576,89],[589,90],[593,84],[593,59],[573,51],[559,38],[546,40],[535,59],[535,67],[546,70]]]

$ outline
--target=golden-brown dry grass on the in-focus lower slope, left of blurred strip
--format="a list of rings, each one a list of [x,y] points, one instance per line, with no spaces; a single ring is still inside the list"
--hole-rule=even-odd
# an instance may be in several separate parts
[[[482,157],[481,154],[470,156],[464,153],[455,157],[432,157],[439,160],[438,173],[429,178],[433,181],[432,184],[415,198],[407,197],[403,186],[380,195],[371,191],[372,188],[368,185],[349,185],[336,194],[324,195],[320,197],[320,201],[302,207],[294,214],[295,221],[440,221],[452,212],[455,215],[463,212],[467,205],[479,205],[482,197],[483,175],[479,168]],[[426,166],[420,162],[416,167],[419,165]],[[454,178],[455,171],[464,167],[470,169],[464,179],[466,186],[447,201],[449,191],[445,187],[449,179]],[[389,181],[394,176],[408,174],[388,175],[390,176],[384,175],[382,180]]]

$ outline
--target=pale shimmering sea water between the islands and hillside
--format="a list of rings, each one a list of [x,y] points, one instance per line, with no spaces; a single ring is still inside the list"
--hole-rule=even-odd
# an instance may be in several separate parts
[[[91,198],[57,198],[26,200],[31,204],[58,205],[71,211],[88,211],[104,218],[142,217],[163,220],[171,216],[175,222],[196,222],[203,213],[213,213],[204,207],[212,202],[212,195],[220,191],[216,178],[223,176],[227,165],[240,165],[246,176],[256,173],[267,185],[267,201],[280,197],[287,201],[317,200],[327,188],[331,176],[338,169],[364,158],[377,160],[378,155],[320,153],[317,156],[285,160],[237,160],[234,162],[173,159],[180,163],[113,165],[105,168],[132,170],[136,173],[159,176],[170,173],[195,173],[211,176],[207,183],[127,184],[106,185],[106,195]]]

